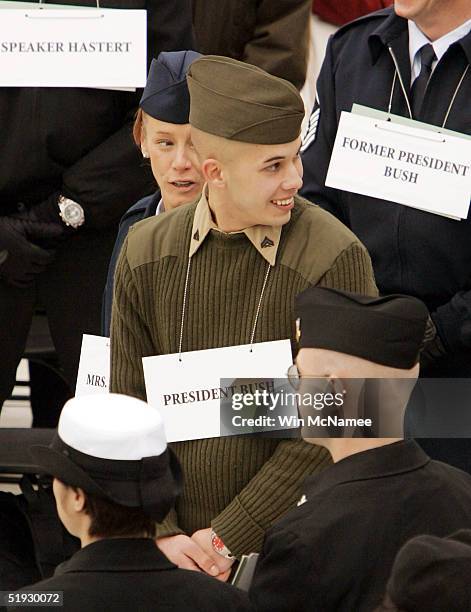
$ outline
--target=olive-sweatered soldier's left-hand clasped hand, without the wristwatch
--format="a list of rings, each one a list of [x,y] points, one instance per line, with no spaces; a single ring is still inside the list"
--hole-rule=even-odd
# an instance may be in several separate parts
[[[181,569],[203,571],[218,576],[219,568],[210,555],[187,535],[168,536],[155,541],[164,555]]]

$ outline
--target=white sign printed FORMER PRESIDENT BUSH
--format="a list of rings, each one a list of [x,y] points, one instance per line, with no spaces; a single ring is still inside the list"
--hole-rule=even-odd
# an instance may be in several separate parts
[[[449,132],[342,112],[326,186],[465,219],[470,159],[471,142]]]

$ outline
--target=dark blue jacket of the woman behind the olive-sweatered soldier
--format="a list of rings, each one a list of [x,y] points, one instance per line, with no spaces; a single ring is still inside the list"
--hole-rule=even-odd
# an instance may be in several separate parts
[[[103,304],[101,310],[101,333],[103,336],[110,335],[111,327],[111,307],[113,305],[113,290],[114,290],[114,273],[116,270],[116,264],[118,263],[118,257],[123,246],[123,242],[126,240],[129,228],[134,223],[147,219],[155,215],[157,206],[160,201],[160,189],[158,189],[153,195],[147,196],[139,200],[127,210],[121,221],[119,222],[118,235],[116,242],[114,243],[113,252],[111,254],[110,265],[108,267],[108,275],[106,277],[106,287],[103,292]]]

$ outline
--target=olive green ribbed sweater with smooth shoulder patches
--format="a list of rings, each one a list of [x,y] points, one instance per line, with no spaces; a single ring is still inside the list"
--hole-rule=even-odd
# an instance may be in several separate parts
[[[111,391],[145,398],[141,359],[178,352],[196,204],[131,228],[116,271]],[[247,344],[267,262],[245,234],[212,230],[192,258],[183,351]],[[295,338],[294,297],[310,285],[375,295],[358,239],[317,206],[296,198],[265,289],[255,342]],[[299,498],[325,450],[302,440],[231,436],[174,443],[182,497],[159,535],[212,525],[237,555],[260,549],[266,529]]]

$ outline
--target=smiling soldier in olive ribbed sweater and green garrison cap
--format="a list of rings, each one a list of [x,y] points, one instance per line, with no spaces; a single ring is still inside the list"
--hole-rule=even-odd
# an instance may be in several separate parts
[[[188,85],[203,195],[131,228],[116,273],[111,389],[141,398],[141,358],[179,350],[184,293],[186,352],[247,344],[254,321],[254,342],[294,340],[294,297],[312,285],[377,292],[363,245],[296,196],[304,114],[296,88],[218,56],[193,62]],[[222,580],[230,553],[259,550],[304,478],[329,462],[302,440],[232,436],[173,449],[186,484],[157,543],[180,567]]]

